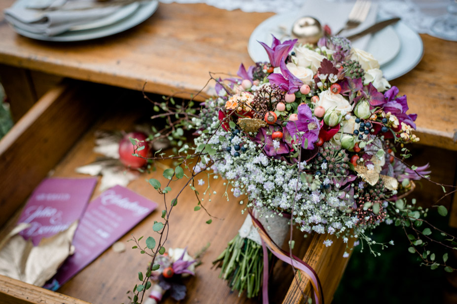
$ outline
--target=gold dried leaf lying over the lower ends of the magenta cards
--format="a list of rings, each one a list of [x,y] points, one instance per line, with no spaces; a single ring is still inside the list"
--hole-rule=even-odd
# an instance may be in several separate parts
[[[27,227],[15,228],[2,241],[0,273],[29,284],[43,286],[70,255],[76,227],[77,221],[67,230],[42,238],[38,246],[17,234]]]

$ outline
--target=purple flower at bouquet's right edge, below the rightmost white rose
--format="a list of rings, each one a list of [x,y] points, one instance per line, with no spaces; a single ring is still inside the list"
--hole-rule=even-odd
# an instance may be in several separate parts
[[[396,86],[392,86],[386,93],[384,93],[384,98],[386,103],[383,105],[384,112],[390,112],[394,114],[400,122],[404,122],[414,129],[416,129],[416,124],[414,121],[417,118],[417,114],[406,114],[408,111],[408,104],[406,102],[406,95],[399,96],[398,95],[398,88]]]

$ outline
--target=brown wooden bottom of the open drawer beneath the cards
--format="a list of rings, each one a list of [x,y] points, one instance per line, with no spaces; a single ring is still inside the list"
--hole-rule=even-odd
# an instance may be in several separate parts
[[[155,98],[160,98],[160,96],[155,96]],[[126,101],[129,102],[127,103]],[[72,100],[72,102],[73,104],[79,104],[82,107],[85,105],[78,100]],[[95,145],[94,132],[96,130],[125,130],[128,132],[132,131],[134,125],[137,123],[143,123],[144,121],[151,123],[149,119],[150,113],[152,113],[151,106],[142,98],[139,92],[133,92],[133,96],[129,95],[124,98],[117,98],[117,103],[115,99],[110,100],[109,104],[109,109],[106,109],[105,113],[96,124],[76,142],[62,161],[55,166],[51,172],[51,176],[87,177],[87,175],[75,173],[75,168],[88,164],[100,156],[92,151]],[[41,102],[36,106],[38,105],[41,105]],[[66,110],[61,109],[61,111],[65,112]],[[69,108],[68,111],[74,112],[74,109]],[[84,119],[84,117],[85,114],[81,114],[81,119]],[[46,129],[44,126],[43,128]],[[52,128],[52,124],[47,125],[47,129]],[[170,165],[170,162],[164,161],[158,164],[158,167],[159,170],[163,170],[163,168]],[[97,260],[83,269],[68,283],[63,285],[62,288],[59,289],[60,293],[94,304],[128,302],[126,292],[138,283],[137,273],[138,271],[145,271],[149,260],[145,255],[141,255],[139,250],[130,249],[134,244],[127,241],[131,239],[132,234],[137,238],[141,235],[151,235],[151,233],[154,233],[151,229],[154,220],[161,220],[160,210],[163,209],[163,197],[145,181],[152,177],[159,179],[162,184],[165,183],[165,179],[160,173],[152,172],[149,174],[142,174],[138,180],[129,185],[129,189],[156,201],[159,204],[159,207],[138,226],[120,239],[121,242],[126,244],[127,250],[123,253],[116,253],[109,248]],[[245,297],[238,297],[237,292],[230,291],[226,282],[218,278],[219,270],[211,269],[211,262],[220,252],[222,252],[227,242],[236,235],[244,221],[244,216],[241,214],[244,206],[240,205],[238,200],[234,199],[231,195],[229,196],[230,201],[227,201],[226,198],[222,197],[222,194],[226,189],[223,182],[224,181],[221,179],[213,180],[211,178],[211,193],[215,190],[217,191],[217,194],[211,195],[211,202],[208,201],[208,195],[205,197],[205,206],[208,208],[211,215],[219,218],[214,218],[211,225],[205,223],[210,217],[203,209],[197,212],[193,211],[193,208],[196,205],[196,199],[193,192],[189,189],[182,193],[180,199],[178,199],[177,208],[173,210],[170,221],[170,235],[169,240],[165,245],[166,248],[188,246],[189,252],[195,254],[208,242],[211,243],[210,248],[203,257],[203,264],[197,268],[197,278],[188,279],[187,287],[189,291],[186,299],[182,301],[182,303],[212,304],[221,303],[221,301],[224,303],[239,304],[259,303],[259,299],[248,300]],[[206,185],[199,187],[200,193],[203,193],[207,185],[208,181],[206,182]],[[173,191],[171,196],[167,199],[171,200],[173,194],[175,194],[180,187],[182,187],[182,182],[172,185]],[[100,190],[99,188],[96,188],[92,199],[99,194]],[[14,216],[10,217],[10,221],[3,232],[15,224],[19,213],[20,210],[18,210]],[[309,244],[312,242],[313,238],[304,238],[298,231],[296,231],[294,238],[296,240],[294,254],[297,256],[305,256],[309,251]],[[331,251],[333,250],[335,250],[335,256],[341,257],[343,254],[343,252],[339,252],[340,249],[336,246],[332,247]],[[314,260],[316,261],[319,259],[315,256]],[[346,263],[343,259],[340,259],[340,262],[339,275],[335,275],[334,280],[340,279]],[[316,265],[326,263],[326,259],[320,259]],[[292,279],[293,272],[290,266],[284,263],[277,263],[274,275],[270,278],[271,303],[281,303]],[[326,281],[322,283],[325,290],[333,288],[328,288]],[[8,289],[6,292],[3,291],[3,293],[19,296],[20,294],[24,294],[21,292],[21,288],[22,285],[19,285],[16,289],[13,288],[14,291],[10,292]],[[32,288],[32,290],[35,289]],[[1,293],[2,291],[0,290],[0,297]],[[55,302],[49,301],[48,303],[65,303],[64,301],[59,302],[61,300],[59,297],[59,295],[56,295],[56,298],[54,299]],[[22,304],[27,302],[18,303]],[[171,304],[175,302],[167,299],[163,303]]]

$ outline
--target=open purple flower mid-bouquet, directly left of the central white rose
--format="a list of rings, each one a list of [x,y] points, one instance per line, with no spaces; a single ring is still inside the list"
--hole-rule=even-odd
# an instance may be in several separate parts
[[[295,137],[297,143],[301,143],[304,149],[314,149],[314,143],[319,140],[320,123],[313,116],[308,105],[298,106],[298,120],[287,122],[286,128],[290,136]],[[303,132],[303,134],[299,134],[299,132]],[[306,139],[308,139],[307,147],[305,147]]]

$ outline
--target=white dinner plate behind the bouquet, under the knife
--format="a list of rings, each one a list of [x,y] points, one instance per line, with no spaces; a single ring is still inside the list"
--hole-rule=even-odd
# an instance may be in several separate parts
[[[297,13],[278,14],[259,24],[252,32],[247,46],[252,60],[255,62],[268,61],[267,53],[258,41],[270,45],[273,41],[272,34],[277,38],[282,38],[281,40],[286,39],[286,33],[280,27],[287,31],[298,16]],[[356,42],[357,40],[353,43],[355,46]],[[423,52],[420,36],[401,21],[397,22],[395,26],[388,26],[373,34],[363,48],[372,53],[379,61],[387,80],[411,71],[421,60]],[[401,62],[399,58],[401,58]]]

